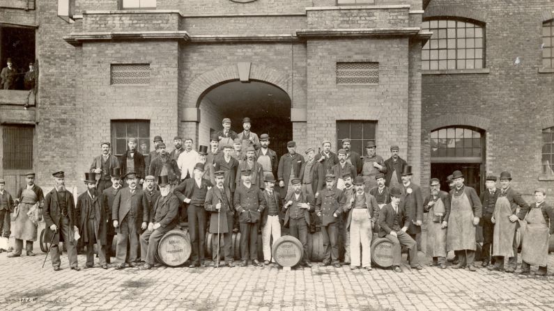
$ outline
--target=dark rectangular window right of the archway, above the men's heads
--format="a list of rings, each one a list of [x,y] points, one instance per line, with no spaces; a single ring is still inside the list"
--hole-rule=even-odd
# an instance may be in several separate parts
[[[364,146],[368,141],[376,143],[377,121],[341,120],[337,121],[337,150],[342,147],[344,138],[351,139],[351,150],[364,156]]]

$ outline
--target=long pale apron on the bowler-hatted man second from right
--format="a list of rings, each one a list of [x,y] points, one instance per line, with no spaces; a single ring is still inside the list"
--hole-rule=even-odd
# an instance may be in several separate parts
[[[498,197],[494,206],[493,256],[514,257],[516,222],[509,220],[511,207],[508,198]]]

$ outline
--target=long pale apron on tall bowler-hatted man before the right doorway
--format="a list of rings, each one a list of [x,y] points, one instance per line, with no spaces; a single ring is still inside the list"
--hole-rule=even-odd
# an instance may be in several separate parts
[[[452,196],[450,216],[448,218],[448,250],[475,250],[475,225],[470,200],[465,195]]]

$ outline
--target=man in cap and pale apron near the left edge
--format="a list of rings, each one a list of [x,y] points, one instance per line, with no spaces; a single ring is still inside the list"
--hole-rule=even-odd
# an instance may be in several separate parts
[[[43,189],[35,184],[35,173],[25,174],[26,185],[17,189],[15,196],[15,223],[12,228],[15,248],[8,257],[20,257],[25,242],[27,256],[34,256],[33,241],[36,241],[37,225],[40,220],[40,208],[43,207]]]

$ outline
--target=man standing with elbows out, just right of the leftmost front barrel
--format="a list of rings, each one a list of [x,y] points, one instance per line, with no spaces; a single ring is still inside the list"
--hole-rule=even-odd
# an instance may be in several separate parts
[[[204,250],[206,249],[206,193],[212,186],[209,180],[202,178],[204,165],[197,163],[194,166],[193,178],[181,182],[174,190],[174,194],[180,202],[185,202],[189,221],[190,246],[190,268],[207,266],[204,262]]]

